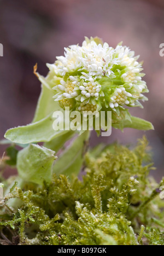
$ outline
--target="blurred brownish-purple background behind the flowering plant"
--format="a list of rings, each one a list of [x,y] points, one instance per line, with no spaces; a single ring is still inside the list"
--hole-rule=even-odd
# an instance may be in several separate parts
[[[10,127],[31,122],[40,94],[40,83],[33,75],[38,63],[46,75],[45,63],[63,55],[63,48],[81,44],[84,36],[101,37],[110,46],[123,41],[144,60],[149,102],[144,109],[131,113],[151,121],[155,131],[113,130],[112,136],[97,138],[92,133],[91,146],[99,142],[135,144],[147,135],[154,148],[156,179],[164,166],[164,43],[163,0],[0,0],[0,138]],[[0,147],[0,158],[4,147]],[[10,171],[14,173],[14,171]]]

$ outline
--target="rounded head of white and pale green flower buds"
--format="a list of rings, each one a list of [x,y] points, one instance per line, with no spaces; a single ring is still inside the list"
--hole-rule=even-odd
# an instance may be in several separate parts
[[[98,38],[85,38],[82,46],[65,48],[65,56],[48,64],[60,81],[53,88],[55,101],[63,108],[80,111],[91,106],[93,110],[120,113],[126,106],[142,107],[139,100],[147,100],[143,93],[148,89],[138,57],[126,46],[119,44],[114,49]]]

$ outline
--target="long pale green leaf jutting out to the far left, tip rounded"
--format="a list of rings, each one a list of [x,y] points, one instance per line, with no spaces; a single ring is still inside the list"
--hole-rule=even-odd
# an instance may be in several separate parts
[[[49,142],[67,131],[54,131],[52,128],[52,114],[48,117],[26,126],[19,126],[8,130],[4,137],[11,142],[30,144],[34,142]]]

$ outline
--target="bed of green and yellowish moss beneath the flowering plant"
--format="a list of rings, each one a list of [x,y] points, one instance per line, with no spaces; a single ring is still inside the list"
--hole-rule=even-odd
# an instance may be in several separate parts
[[[163,245],[164,179],[149,177],[147,146],[145,138],[133,150],[98,146],[85,155],[81,180],[53,174],[43,186],[14,184],[0,204],[2,233],[19,235],[20,245]]]

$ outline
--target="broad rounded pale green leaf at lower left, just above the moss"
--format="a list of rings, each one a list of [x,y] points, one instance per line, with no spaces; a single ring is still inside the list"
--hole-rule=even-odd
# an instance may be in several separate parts
[[[52,164],[55,159],[54,151],[30,144],[17,155],[19,177],[23,181],[33,182],[39,185],[42,185],[43,181],[50,182]]]

